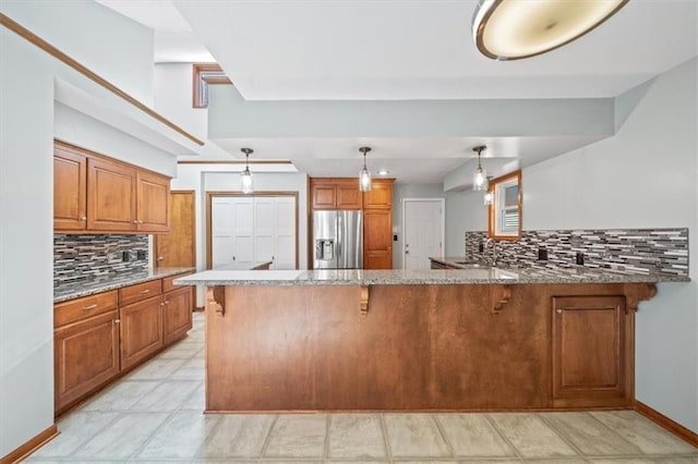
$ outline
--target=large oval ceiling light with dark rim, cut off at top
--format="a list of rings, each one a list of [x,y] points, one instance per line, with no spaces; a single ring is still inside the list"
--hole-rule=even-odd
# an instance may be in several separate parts
[[[628,0],[480,0],[472,36],[482,54],[519,60],[562,47],[593,29]]]

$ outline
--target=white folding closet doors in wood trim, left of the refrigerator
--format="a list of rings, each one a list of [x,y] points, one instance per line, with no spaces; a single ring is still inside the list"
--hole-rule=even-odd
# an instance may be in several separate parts
[[[296,269],[296,197],[214,196],[212,268]]]

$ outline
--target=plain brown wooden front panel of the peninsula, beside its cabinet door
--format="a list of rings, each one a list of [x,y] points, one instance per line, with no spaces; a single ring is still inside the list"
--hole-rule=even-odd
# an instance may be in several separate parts
[[[500,310],[496,286],[371,285],[366,315],[359,285],[216,288],[206,410],[566,407],[552,395],[553,296],[622,297],[628,284],[510,285]],[[615,405],[630,407],[631,381],[624,392]]]

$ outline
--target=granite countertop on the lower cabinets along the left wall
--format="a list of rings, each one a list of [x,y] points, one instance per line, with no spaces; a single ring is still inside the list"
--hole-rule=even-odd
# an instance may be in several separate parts
[[[53,286],[53,303],[65,302],[81,296],[94,295],[95,293],[117,290],[136,283],[148,282],[151,280],[163,279],[178,273],[193,272],[195,268],[160,268],[147,269],[140,272],[128,272],[123,276],[105,276],[89,280],[82,280],[70,283],[62,283]]]

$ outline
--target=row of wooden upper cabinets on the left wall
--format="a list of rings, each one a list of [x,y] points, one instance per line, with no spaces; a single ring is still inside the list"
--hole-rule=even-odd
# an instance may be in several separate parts
[[[169,178],[61,142],[53,167],[57,232],[169,230]]]

